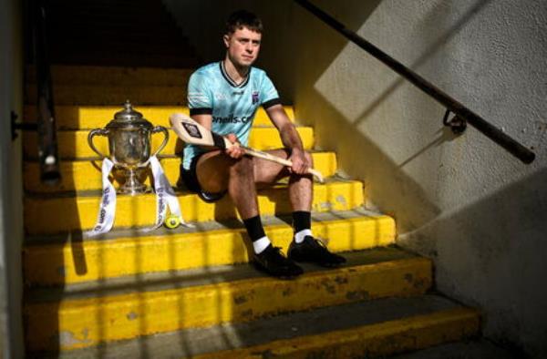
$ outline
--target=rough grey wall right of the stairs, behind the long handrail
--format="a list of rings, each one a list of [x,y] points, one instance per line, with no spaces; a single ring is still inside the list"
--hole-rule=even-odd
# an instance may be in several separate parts
[[[533,149],[532,165],[474,128],[454,137],[444,108],[289,0],[164,2],[207,60],[232,5],[262,15],[258,65],[395,216],[398,243],[434,259],[441,292],[484,310],[485,335],[547,356],[547,2],[313,1]]]

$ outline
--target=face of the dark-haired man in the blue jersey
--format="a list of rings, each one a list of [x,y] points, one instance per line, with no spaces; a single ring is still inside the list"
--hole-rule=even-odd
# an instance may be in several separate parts
[[[250,67],[258,56],[262,34],[242,27],[224,36],[224,44],[232,63],[238,67]]]

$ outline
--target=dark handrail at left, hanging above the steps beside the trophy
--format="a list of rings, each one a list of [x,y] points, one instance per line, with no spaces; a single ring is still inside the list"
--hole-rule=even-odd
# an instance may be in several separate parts
[[[61,179],[57,156],[57,126],[53,100],[53,84],[47,53],[46,9],[43,1],[31,3],[37,89],[37,141],[40,180],[55,185]]]

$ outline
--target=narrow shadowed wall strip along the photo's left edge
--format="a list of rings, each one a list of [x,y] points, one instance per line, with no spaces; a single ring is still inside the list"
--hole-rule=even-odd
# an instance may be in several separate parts
[[[0,3],[0,357],[23,358],[23,193],[21,141],[12,141],[10,112],[23,113],[21,2]]]

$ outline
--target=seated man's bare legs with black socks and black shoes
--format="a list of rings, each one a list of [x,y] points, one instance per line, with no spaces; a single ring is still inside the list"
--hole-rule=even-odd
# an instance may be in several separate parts
[[[274,156],[288,158],[288,152],[284,149],[268,152]],[[308,163],[311,164],[311,155],[305,153],[305,156]],[[337,266],[345,262],[342,257],[327,251],[325,246],[321,246],[313,238],[311,231],[313,181],[311,176],[292,174],[287,167],[265,159],[248,157],[231,159],[221,151],[209,152],[201,156],[198,162],[198,180],[203,190],[213,193],[228,190],[253,240],[255,261],[261,263],[263,268],[276,276],[293,277],[302,273],[302,269],[295,266],[293,262],[285,262],[285,258],[280,253],[273,254],[273,247],[263,234],[256,197],[256,187],[271,185],[286,176],[290,176],[289,198],[293,207],[294,219],[294,241],[291,243],[289,253],[291,251],[296,253],[294,257],[297,260],[317,262],[325,266]],[[250,223],[252,224],[250,225]],[[257,226],[260,231],[256,230]],[[265,239],[264,245],[256,245],[260,244],[257,238],[261,235],[264,236],[262,240]],[[307,241],[304,242],[304,238]],[[267,261],[263,260],[266,256],[268,256]]]

